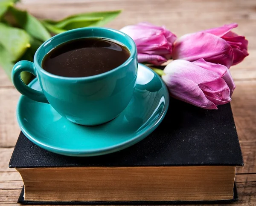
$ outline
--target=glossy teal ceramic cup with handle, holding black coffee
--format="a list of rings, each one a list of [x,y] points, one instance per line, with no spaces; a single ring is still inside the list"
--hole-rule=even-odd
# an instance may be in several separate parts
[[[122,65],[90,77],[62,77],[45,71],[42,60],[58,45],[70,40],[99,37],[125,46],[131,56]],[[113,57],[115,58],[115,57]],[[12,69],[12,82],[24,96],[49,103],[62,117],[81,125],[99,125],[113,120],[128,106],[137,78],[137,49],[134,41],[121,31],[88,27],[58,34],[44,42],[36,51],[34,63],[19,61]],[[34,74],[42,91],[23,83],[21,72]]]

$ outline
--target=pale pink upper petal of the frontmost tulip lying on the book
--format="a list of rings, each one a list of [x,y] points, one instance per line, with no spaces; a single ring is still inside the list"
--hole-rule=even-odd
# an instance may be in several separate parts
[[[200,63],[202,65],[203,61],[198,60],[198,65]],[[206,68],[198,65],[186,60],[173,60],[165,67],[163,72],[171,76],[192,80],[197,85],[217,80],[227,72],[227,67],[219,64],[206,64]],[[212,67],[212,69],[209,69],[209,67]]]

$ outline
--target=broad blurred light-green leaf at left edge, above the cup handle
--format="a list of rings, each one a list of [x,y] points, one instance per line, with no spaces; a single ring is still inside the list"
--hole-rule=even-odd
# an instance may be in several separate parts
[[[30,47],[29,34],[23,29],[0,23],[0,44],[9,52],[12,60],[18,60]]]

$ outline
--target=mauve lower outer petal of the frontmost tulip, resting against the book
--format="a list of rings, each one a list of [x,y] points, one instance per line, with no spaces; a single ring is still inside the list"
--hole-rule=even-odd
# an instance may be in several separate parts
[[[170,96],[201,108],[217,109],[215,104],[207,99],[204,92],[192,80],[167,74],[163,75],[162,78],[169,89]]]

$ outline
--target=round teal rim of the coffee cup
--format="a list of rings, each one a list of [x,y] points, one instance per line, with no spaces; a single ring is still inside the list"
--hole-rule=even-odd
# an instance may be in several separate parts
[[[63,76],[59,76],[59,75],[56,75],[56,74],[52,74],[50,72],[47,72],[46,70],[44,70],[42,68],[42,66],[38,63],[38,60],[37,60],[37,57],[38,57],[38,53],[39,51],[45,46],[47,45],[48,43],[50,43],[53,39],[55,38],[58,38],[58,37],[61,37],[61,36],[64,36],[64,35],[67,35],[69,33],[73,33],[73,32],[80,32],[81,30],[107,30],[107,31],[111,31],[111,32],[115,32],[119,35],[123,35],[125,38],[128,38],[128,40],[131,42],[131,55],[130,57],[124,62],[122,63],[121,65],[117,66],[116,68],[114,69],[111,69],[110,71],[108,72],[104,72],[104,73],[101,73],[101,74],[96,74],[96,75],[92,75],[92,76],[87,76],[87,77],[63,77]],[[86,37],[84,37],[86,38]],[[104,37],[103,37],[104,38]],[[114,40],[114,39],[113,39]],[[64,42],[63,42],[64,43]],[[60,43],[59,45],[61,45],[62,43]],[[46,54],[45,54],[46,55]],[[45,57],[44,55],[44,57]],[[105,75],[108,75],[108,74],[111,74],[113,72],[115,72],[116,70],[119,70],[121,68],[123,68],[124,66],[126,66],[128,63],[131,62],[132,59],[134,59],[134,57],[137,55],[137,47],[136,47],[136,44],[134,42],[134,40],[128,36],[127,34],[125,34],[124,32],[122,31],[119,31],[119,30],[116,30],[116,29],[111,29],[111,28],[106,28],[106,27],[84,27],[84,28],[78,28],[78,29],[71,29],[69,31],[64,31],[60,34],[57,34],[51,38],[49,38],[48,40],[46,40],[44,43],[41,44],[41,46],[38,47],[37,51],[35,52],[35,56],[34,56],[34,64],[35,64],[35,69],[36,70],[40,70],[40,72],[42,72],[43,74],[46,74],[47,76],[49,77],[54,77],[54,78],[57,78],[59,80],[92,80],[92,79],[96,79],[96,78],[99,78],[99,77],[103,77]],[[43,58],[44,59],[44,58]]]

